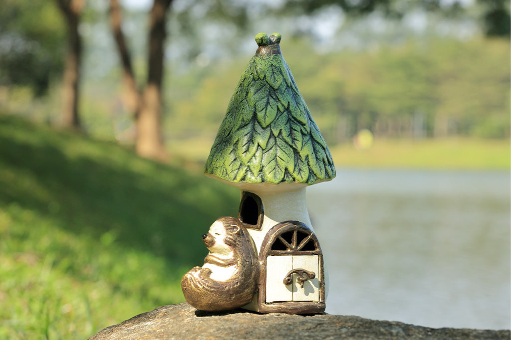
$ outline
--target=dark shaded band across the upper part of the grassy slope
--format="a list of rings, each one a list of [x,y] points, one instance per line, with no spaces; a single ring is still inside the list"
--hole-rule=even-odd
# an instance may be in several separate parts
[[[0,208],[51,215],[70,232],[201,264],[216,218],[237,211],[238,191],[130,150],[0,116]]]

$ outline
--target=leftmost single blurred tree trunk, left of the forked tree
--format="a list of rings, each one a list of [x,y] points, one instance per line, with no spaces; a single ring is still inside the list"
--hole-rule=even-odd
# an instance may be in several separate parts
[[[82,39],[78,31],[80,14],[85,0],[57,0],[57,5],[67,24],[68,50],[62,78],[62,113],[64,127],[80,129],[78,99],[80,86],[80,65],[82,58]]]

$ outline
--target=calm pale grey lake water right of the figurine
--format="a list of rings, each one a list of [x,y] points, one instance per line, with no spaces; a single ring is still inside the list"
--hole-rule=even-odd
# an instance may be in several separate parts
[[[307,189],[327,312],[509,329],[509,172],[338,169]]]

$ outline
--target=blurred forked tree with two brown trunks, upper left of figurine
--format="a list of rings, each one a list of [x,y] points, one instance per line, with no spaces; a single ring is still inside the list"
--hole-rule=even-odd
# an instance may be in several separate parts
[[[117,51],[123,68],[124,104],[132,112],[136,122],[136,152],[144,157],[161,159],[165,158],[164,141],[161,127],[161,83],[164,74],[164,44],[167,36],[166,21],[173,0],[154,0],[150,11],[149,43],[148,43],[148,72],[147,82],[143,90],[137,87],[134,77],[131,54],[127,47],[127,41],[122,29],[121,6],[118,0],[110,0],[109,13],[110,25],[114,36]],[[238,6],[234,2],[202,2],[190,1],[181,4],[183,7],[176,13],[174,19],[179,32],[187,39],[187,44],[192,44],[193,38],[197,38],[195,28],[190,26],[192,13],[198,8],[207,8],[208,20],[227,20],[235,27],[243,30],[246,28],[247,6]],[[193,49],[193,47],[192,47]],[[189,58],[196,58],[199,49],[195,48]]]

